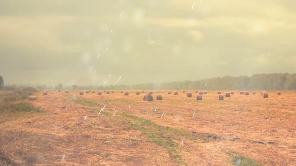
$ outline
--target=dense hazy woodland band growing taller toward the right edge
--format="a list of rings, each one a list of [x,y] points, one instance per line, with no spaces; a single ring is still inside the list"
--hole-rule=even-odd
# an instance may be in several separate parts
[[[146,83],[132,86],[132,89],[203,89],[203,90],[296,90],[296,74],[274,73],[248,76],[224,76],[198,81],[177,81]]]

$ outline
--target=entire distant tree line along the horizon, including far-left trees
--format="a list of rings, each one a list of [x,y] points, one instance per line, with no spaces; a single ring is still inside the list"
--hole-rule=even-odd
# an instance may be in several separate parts
[[[15,90],[16,86],[3,86],[3,77],[0,76],[1,90]],[[224,76],[198,81],[176,81],[165,83],[145,83],[133,86],[66,86],[60,83],[56,87],[37,86],[38,89],[78,89],[78,90],[296,90],[296,73],[254,74],[248,76]]]

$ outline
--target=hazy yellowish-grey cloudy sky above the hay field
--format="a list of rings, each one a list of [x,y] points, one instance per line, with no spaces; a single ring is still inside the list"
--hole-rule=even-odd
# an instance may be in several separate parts
[[[296,73],[296,0],[0,0],[0,36],[6,85]]]

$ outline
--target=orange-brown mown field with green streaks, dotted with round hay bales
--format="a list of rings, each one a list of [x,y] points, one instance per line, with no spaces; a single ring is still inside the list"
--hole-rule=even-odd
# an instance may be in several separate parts
[[[195,91],[153,91],[152,102],[143,101],[148,90],[128,92],[39,91],[37,100],[25,100],[39,111],[2,107],[0,165],[296,165],[296,92],[262,98],[234,91],[218,100],[207,91],[197,101]]]

